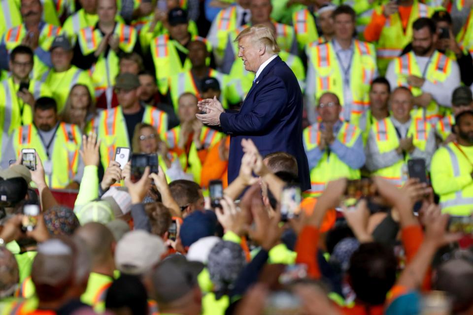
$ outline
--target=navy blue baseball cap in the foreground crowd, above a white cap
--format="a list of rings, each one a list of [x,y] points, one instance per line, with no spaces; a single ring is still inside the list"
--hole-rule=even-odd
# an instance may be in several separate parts
[[[215,235],[217,216],[210,210],[194,211],[182,222],[179,232],[182,245],[189,247],[203,237]]]

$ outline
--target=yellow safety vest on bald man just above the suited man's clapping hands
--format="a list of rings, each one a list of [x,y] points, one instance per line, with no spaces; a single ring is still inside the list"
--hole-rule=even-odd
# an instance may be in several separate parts
[[[221,94],[221,102],[223,107],[227,108],[227,99],[226,99],[226,89],[225,85],[227,84],[227,75],[218,72],[217,70],[210,69],[208,72],[208,76],[212,78],[216,78],[218,83],[220,84],[220,90],[222,91]],[[178,111],[178,99],[179,96],[185,92],[190,92],[197,96],[197,98],[202,99],[199,90],[197,89],[196,82],[194,77],[192,76],[192,71],[185,71],[174,74],[169,78],[169,85],[170,85],[170,92],[171,92],[171,101],[172,105],[174,106],[174,111],[177,113]]]

